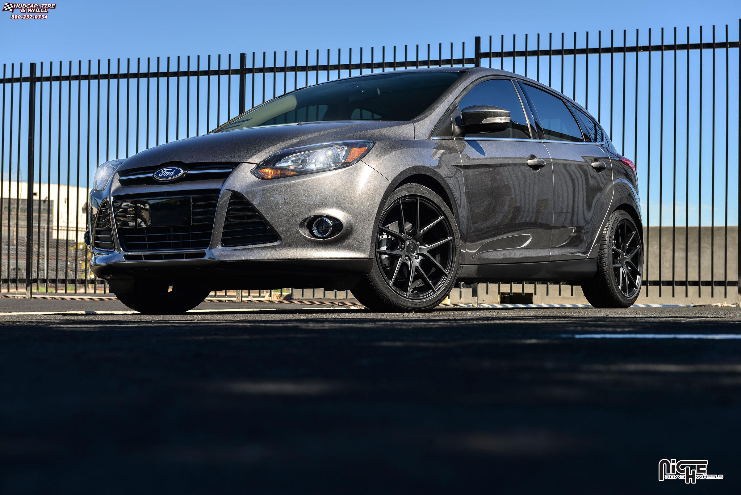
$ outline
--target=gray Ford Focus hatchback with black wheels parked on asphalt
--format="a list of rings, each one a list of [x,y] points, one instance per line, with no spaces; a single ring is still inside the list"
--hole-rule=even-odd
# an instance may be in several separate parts
[[[104,163],[89,205],[93,272],[142,313],[281,287],[428,310],[456,282],[578,283],[624,308],[642,282],[633,162],[579,104],[502,70],[304,87]]]

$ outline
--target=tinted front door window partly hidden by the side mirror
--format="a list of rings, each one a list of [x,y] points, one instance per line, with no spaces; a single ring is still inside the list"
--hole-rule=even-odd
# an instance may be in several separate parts
[[[522,102],[519,101],[517,90],[515,90],[514,84],[509,79],[491,79],[476,84],[458,102],[458,107],[463,110],[465,107],[472,107],[477,104],[486,104],[509,110],[512,122],[502,130],[480,134],[467,134],[466,136],[530,139],[530,130],[528,129],[528,119],[525,119],[525,110],[522,110]],[[460,122],[457,123],[460,124]]]

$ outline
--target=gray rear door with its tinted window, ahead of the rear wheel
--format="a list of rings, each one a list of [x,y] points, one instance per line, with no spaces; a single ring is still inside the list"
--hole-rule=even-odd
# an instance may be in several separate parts
[[[612,199],[612,165],[599,144],[602,129],[555,92],[524,82],[521,86],[534,107],[543,142],[553,161],[551,259],[586,257],[602,230]],[[582,119],[593,124],[591,135],[586,124],[579,124]]]

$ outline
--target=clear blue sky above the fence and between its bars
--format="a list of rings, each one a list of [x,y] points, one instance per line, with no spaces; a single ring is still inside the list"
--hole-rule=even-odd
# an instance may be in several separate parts
[[[0,16],[0,41],[5,49],[3,50],[0,64],[7,64],[7,73],[10,73],[10,63],[16,64],[16,74],[19,70],[18,63],[24,62],[24,70],[27,70],[28,62],[45,61],[44,72],[48,73],[49,61],[54,61],[54,72],[58,73],[59,61],[64,61],[63,73],[67,73],[68,62],[73,61],[73,73],[77,73],[78,61],[82,60],[82,73],[87,72],[87,60],[92,60],[93,72],[96,70],[97,59],[102,59],[102,71],[105,72],[107,59],[113,59],[113,71],[116,70],[116,59],[122,58],[122,70],[125,70],[126,59],[131,58],[132,67],[136,67],[136,58],[142,58],[142,70],[146,68],[146,58],[160,56],[162,61],[162,70],[165,69],[165,57],[170,56],[171,68],[174,70],[176,56],[181,56],[182,68],[185,68],[187,59],[190,56],[191,68],[196,67],[196,56],[201,57],[201,67],[205,68],[207,63],[206,57],[212,55],[212,67],[216,66],[216,55],[222,55],[222,67],[226,67],[227,54],[231,53],[232,65],[236,67],[239,59],[239,53],[257,53],[258,64],[261,63],[262,51],[268,51],[268,65],[272,64],[272,52],[277,50],[279,63],[282,61],[283,50],[289,52],[289,62],[293,62],[293,50],[299,50],[299,63],[302,63],[305,49],[310,50],[310,63],[314,62],[316,49],[320,50],[322,63],[325,62],[327,49],[331,48],[330,60],[336,62],[336,50],[342,48],[343,62],[346,62],[348,48],[353,49],[353,62],[357,62],[359,48],[365,50],[365,61],[368,61],[370,47],[376,47],[376,60],[380,53],[381,47],[387,47],[387,57],[391,57],[391,46],[396,44],[398,57],[403,57],[404,45],[409,45],[410,55],[413,58],[414,45],[420,44],[421,53],[426,52],[427,44],[431,44],[433,57],[436,57],[436,47],[439,43],[443,44],[443,56],[449,56],[450,42],[455,42],[454,54],[460,56],[461,41],[466,42],[467,55],[471,56],[474,36],[482,36],[484,39],[484,48],[488,47],[488,36],[493,36],[494,50],[498,50],[499,39],[501,35],[505,36],[505,49],[511,50],[512,35],[517,35],[517,48],[524,47],[525,33],[529,35],[529,47],[534,48],[536,34],[540,33],[542,46],[545,47],[548,33],[554,33],[554,46],[560,43],[560,33],[565,32],[566,47],[571,47],[573,43],[574,31],[577,32],[578,44],[583,46],[586,30],[589,31],[590,46],[597,46],[598,31],[602,30],[602,44],[609,43],[610,30],[615,30],[615,43],[622,43],[622,30],[628,30],[628,44],[635,42],[635,30],[639,28],[640,44],[648,43],[648,28],[651,27],[652,42],[657,44],[660,37],[660,28],[665,27],[665,43],[672,42],[672,28],[679,28],[679,42],[685,41],[686,26],[691,26],[691,41],[698,41],[699,26],[704,26],[703,39],[709,41],[711,38],[712,25],[716,24],[717,39],[725,39],[725,24],[729,24],[729,36],[733,40],[738,39],[738,19],[741,17],[741,4],[738,1],[622,1],[619,6],[616,4],[603,4],[602,8],[595,8],[595,2],[570,1],[570,2],[528,2],[527,7],[523,2],[478,2],[471,4],[470,7],[457,7],[451,2],[443,1],[374,1],[374,2],[348,2],[348,1],[282,1],[282,2],[256,2],[256,1],[218,1],[205,5],[201,1],[179,1],[179,2],[93,2],[93,1],[62,1],[57,4],[56,10],[53,10],[49,19],[41,21],[24,21],[10,20],[8,13],[1,13]],[[471,15],[474,12],[475,15]],[[14,49],[13,49],[14,48]],[[659,170],[659,76],[660,76],[660,59],[659,55],[654,53],[651,59],[651,76],[654,78],[652,90],[652,108],[651,108],[651,174],[649,176],[645,164],[648,162],[648,84],[645,83],[645,76],[648,73],[648,56],[642,55],[639,59],[639,72],[641,73],[641,86],[639,87],[638,100],[638,130],[639,142],[634,147],[633,130],[634,130],[634,87],[628,84],[626,89],[626,113],[625,134],[627,137],[625,143],[625,154],[635,158],[639,168],[639,179],[641,184],[643,213],[648,216],[649,222],[656,225],[659,222],[659,205],[662,205],[661,221],[664,225],[671,224],[673,214],[676,214],[677,223],[682,225],[685,222],[685,200],[689,203],[688,220],[690,225],[710,225],[712,212],[715,211],[714,222],[716,225],[722,225],[725,215],[725,185],[730,184],[728,193],[728,203],[731,205],[728,222],[736,225],[738,222],[737,205],[738,191],[735,185],[738,184],[738,50],[731,50],[731,64],[728,71],[730,79],[730,95],[728,99],[729,120],[729,140],[728,140],[728,157],[729,172],[725,174],[725,54],[717,52],[717,72],[716,72],[716,150],[715,150],[715,171],[712,170],[712,142],[711,142],[711,122],[712,122],[712,104],[711,104],[711,77],[712,77],[712,59],[711,52],[704,53],[704,89],[702,93],[703,102],[703,139],[702,139],[702,170],[700,169],[700,139],[699,129],[697,129],[697,116],[699,115],[700,93],[697,87],[697,66],[699,62],[699,52],[694,50],[691,53],[691,103],[689,107],[690,130],[686,132],[686,107],[685,95],[685,74],[686,74],[686,53],[679,53],[677,60],[677,176],[674,176],[674,128],[673,128],[673,73],[674,62],[673,56],[665,56],[665,116],[664,116],[664,149],[662,153],[662,168]],[[633,56],[628,56],[626,64],[626,76],[631,83],[635,70]],[[597,77],[594,70],[597,66],[597,58],[590,59],[590,79],[589,79],[589,101],[588,109],[597,116]],[[153,59],[151,63],[156,63]],[[248,62],[249,63],[249,62]],[[494,64],[498,66],[498,61]],[[602,57],[602,64],[609,63],[608,57]],[[599,109],[601,122],[606,129],[612,129],[612,136],[619,150],[622,149],[622,57],[615,58],[615,79],[614,90],[616,92],[614,101],[614,115],[610,115],[608,110],[608,100],[605,96],[609,91],[610,79],[605,77],[603,69],[602,78],[602,105]],[[488,65],[488,61],[484,61]],[[535,77],[536,60],[528,61],[528,76]],[[554,60],[556,64],[556,60]],[[571,61],[566,60],[564,70],[564,92],[572,96],[572,75]],[[577,63],[577,67],[582,67],[583,61]],[[547,61],[541,61],[541,81],[548,82],[548,73],[545,70]],[[556,66],[558,65],[558,66]],[[560,87],[560,67],[554,65],[553,86],[556,89]],[[505,68],[512,70],[511,59],[505,62]],[[525,61],[520,59],[516,67],[516,72],[525,72]],[[133,70],[136,70],[135,68]],[[343,76],[347,76],[345,73]],[[320,80],[325,77],[320,76]],[[331,77],[336,77],[333,74]],[[313,76],[308,81],[313,82]],[[144,91],[143,84],[142,91]],[[196,82],[191,82],[190,90],[190,112],[194,112],[196,107]],[[213,81],[212,84],[216,84]],[[226,80],[222,81],[225,86]],[[276,79],[277,93],[282,93],[282,79]],[[299,85],[302,80],[299,79]],[[190,116],[190,127],[185,128],[185,123],[180,122],[178,133],[179,137],[185,135],[194,135],[203,133],[207,128],[216,124],[216,104],[213,103],[210,108],[208,119],[205,116],[203,101],[205,99],[205,81],[199,87],[199,96],[201,97],[201,110],[198,116],[198,129],[196,130],[195,115]],[[266,97],[272,96],[272,79],[265,81]],[[292,89],[293,79],[287,82],[288,89]],[[62,173],[59,175],[61,182],[78,183],[76,179],[76,162],[78,159],[76,152],[76,104],[77,91],[76,83],[71,87],[70,103],[72,107],[70,133],[67,133],[67,83],[62,86]],[[174,102],[174,87],[171,94],[171,101]],[[9,88],[6,88],[9,90]],[[58,85],[54,88],[53,104],[58,103],[56,91]],[[106,86],[101,88],[105,94]],[[112,91],[115,91],[115,84],[112,85]],[[122,109],[124,104],[124,90],[122,86]],[[135,129],[134,119],[136,107],[134,105],[133,95],[136,94],[136,88],[130,88],[132,102],[130,104],[130,129]],[[164,92],[164,83],[162,91]],[[185,83],[181,83],[181,90],[185,99]],[[215,90],[212,88],[212,91]],[[224,89],[225,90],[225,87]],[[236,94],[235,83],[232,83],[232,94]],[[256,80],[256,102],[262,101],[262,81]],[[248,93],[250,90],[248,89]],[[582,75],[577,73],[576,78],[576,100],[582,104],[585,101],[586,87]],[[9,95],[9,93],[7,93]],[[91,98],[96,99],[96,87],[91,87]],[[16,95],[17,98],[17,95]],[[44,98],[48,99],[47,96]],[[82,84],[80,88],[80,100],[83,109],[87,101],[87,87]],[[248,99],[249,100],[249,99]],[[48,101],[46,101],[48,104]],[[247,102],[247,107],[250,102]],[[144,127],[144,113],[146,107],[144,102],[139,104],[140,113],[142,114],[142,127]],[[16,109],[17,110],[17,109]],[[56,139],[60,136],[56,130],[56,107],[53,115],[55,129],[52,132],[55,145],[51,150],[53,159],[53,182],[56,181]],[[225,115],[229,112],[232,116],[236,113],[236,100],[233,98],[231,107],[227,109],[226,103],[222,102],[219,107],[221,113],[221,122],[225,120]],[[123,111],[123,110],[122,110]],[[170,115],[174,120],[174,104],[170,109]],[[182,107],[181,112],[185,112]],[[82,115],[82,147],[85,147],[86,136],[85,127],[87,116]],[[93,111],[93,114],[95,112]],[[44,117],[46,119],[46,117]],[[183,115],[181,114],[181,121]],[[96,117],[91,117],[93,126]],[[125,115],[110,117],[111,126],[115,127],[118,122],[119,127],[119,156],[125,156],[127,153],[136,152],[136,137],[130,133],[129,147],[126,150],[125,143]],[[44,121],[44,126],[46,122]],[[164,135],[161,123],[161,136]],[[102,126],[103,127],[103,126]],[[44,131],[45,132],[45,131]],[[170,126],[170,140],[175,136],[175,130]],[[8,130],[6,130],[6,136]],[[689,155],[685,150],[685,136],[689,139]],[[17,137],[17,136],[16,136]],[[155,141],[154,124],[150,125],[150,145]],[[72,173],[67,177],[64,166],[66,165],[66,147],[67,139],[70,140],[70,162],[72,163]],[[114,139],[110,139],[109,156],[116,156]],[[143,149],[147,136],[144,131],[139,134],[139,149]],[[162,139],[162,138],[161,138]],[[94,147],[94,145],[93,145]],[[96,155],[104,159],[104,145],[102,149],[90,150],[88,158],[86,150],[82,150],[79,160],[82,164],[82,173],[79,184],[84,185],[87,162],[90,162],[90,170],[96,165]],[[44,163],[42,167],[42,179],[46,181],[48,176],[44,175],[48,150],[41,150],[41,159]],[[689,159],[687,158],[689,156]],[[6,170],[7,170],[7,156]],[[15,152],[12,157],[16,161]],[[21,151],[21,163],[24,163],[24,152]],[[685,177],[685,167],[689,166],[689,179]],[[15,165],[14,165],[15,166]],[[22,169],[22,167],[21,167]],[[659,173],[660,180],[664,185],[664,194],[659,202]],[[5,173],[7,179],[7,171]],[[13,173],[13,178],[17,177]],[[24,173],[21,170],[21,180]],[[702,178],[702,187],[699,186]],[[649,182],[651,187],[648,187]],[[677,191],[677,209],[674,209],[674,188],[676,182]],[[685,185],[689,185],[690,194],[685,197]],[[713,188],[713,185],[715,187]],[[715,191],[714,191],[714,190]],[[711,202],[711,195],[715,192],[715,202]],[[700,196],[702,195],[702,198]]]

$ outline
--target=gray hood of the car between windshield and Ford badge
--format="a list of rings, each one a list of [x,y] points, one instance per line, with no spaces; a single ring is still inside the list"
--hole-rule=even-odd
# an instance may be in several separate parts
[[[285,148],[352,139],[414,139],[414,126],[411,122],[347,121],[248,127],[161,144],[130,156],[119,170],[167,162],[259,163]]]

